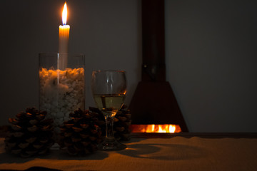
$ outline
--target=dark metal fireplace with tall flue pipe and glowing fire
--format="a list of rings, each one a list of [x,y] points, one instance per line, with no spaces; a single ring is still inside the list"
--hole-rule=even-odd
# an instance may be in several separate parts
[[[141,2],[143,63],[141,82],[129,105],[132,133],[163,133],[163,129],[188,132],[173,90],[166,81],[164,1]]]

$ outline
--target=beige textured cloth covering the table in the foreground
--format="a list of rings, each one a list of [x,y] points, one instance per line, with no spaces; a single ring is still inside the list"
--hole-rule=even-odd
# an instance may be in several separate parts
[[[256,170],[256,138],[135,138],[126,150],[98,151],[71,157],[51,150],[50,155],[20,158],[6,154],[0,139],[0,170],[48,167],[58,170]]]

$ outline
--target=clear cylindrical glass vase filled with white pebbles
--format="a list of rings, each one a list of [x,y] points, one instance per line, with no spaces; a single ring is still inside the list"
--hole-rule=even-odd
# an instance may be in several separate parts
[[[55,130],[69,113],[85,108],[84,55],[39,53],[39,109],[54,119]]]

